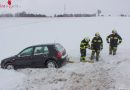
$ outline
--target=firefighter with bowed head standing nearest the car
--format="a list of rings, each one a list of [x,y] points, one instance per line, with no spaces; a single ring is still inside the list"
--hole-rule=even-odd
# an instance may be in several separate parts
[[[81,43],[80,43],[80,53],[81,53],[80,61],[81,61],[81,62],[85,62],[85,61],[86,61],[86,49],[87,49],[87,48],[90,49],[89,42],[90,42],[89,37],[85,37],[85,38],[81,41]]]

